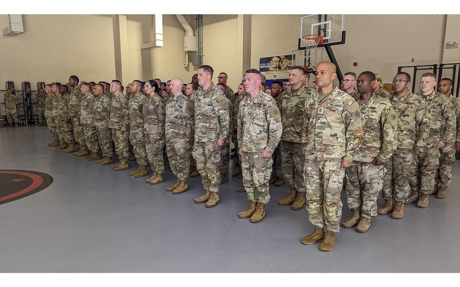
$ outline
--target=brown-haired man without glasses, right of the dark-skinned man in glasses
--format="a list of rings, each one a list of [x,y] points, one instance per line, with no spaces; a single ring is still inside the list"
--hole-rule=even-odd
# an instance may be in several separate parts
[[[419,198],[417,206],[428,206],[428,196],[433,192],[435,185],[435,173],[439,167],[439,149],[446,143],[451,146],[452,134],[456,130],[455,109],[444,94],[435,91],[436,75],[425,73],[420,81],[420,93],[428,105],[431,115],[430,131],[427,149],[418,155],[414,173],[410,180],[412,194],[407,203],[412,203]]]

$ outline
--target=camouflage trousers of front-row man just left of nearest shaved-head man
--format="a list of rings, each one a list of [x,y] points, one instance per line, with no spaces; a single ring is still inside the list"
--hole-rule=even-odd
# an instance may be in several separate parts
[[[248,200],[267,204],[270,201],[268,181],[270,180],[273,160],[271,157],[262,158],[262,152],[242,153],[241,170]]]

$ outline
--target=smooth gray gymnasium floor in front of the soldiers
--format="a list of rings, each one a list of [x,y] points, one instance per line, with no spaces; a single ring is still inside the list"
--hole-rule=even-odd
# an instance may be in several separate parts
[[[0,205],[2,272],[460,271],[458,162],[446,199],[430,196],[427,209],[406,205],[400,220],[379,215],[364,234],[342,228],[335,249],[321,252],[300,243],[313,230],[306,210],[278,206],[286,185],[270,186],[267,216],[254,224],[237,217],[247,207],[236,191],[241,179],[230,176],[209,209],[193,202],[203,193],[200,177],[172,195],[169,171],[165,182],[149,185],[50,141],[48,127],[0,128],[0,168],[54,177],[41,192]]]

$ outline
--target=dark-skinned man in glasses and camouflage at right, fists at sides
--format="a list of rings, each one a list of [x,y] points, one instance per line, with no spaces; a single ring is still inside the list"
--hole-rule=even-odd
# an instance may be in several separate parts
[[[390,103],[398,120],[397,148],[391,163],[387,162],[382,196],[385,204],[378,214],[390,211],[392,218],[402,218],[404,201],[409,195],[409,178],[413,172],[413,156],[424,152],[428,139],[427,103],[417,94],[409,92],[410,75],[401,72],[393,79],[394,93]]]

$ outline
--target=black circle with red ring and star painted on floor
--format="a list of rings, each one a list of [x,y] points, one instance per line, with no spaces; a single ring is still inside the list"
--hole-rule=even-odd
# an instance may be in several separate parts
[[[43,172],[0,169],[0,204],[33,195],[51,183],[53,177]]]

